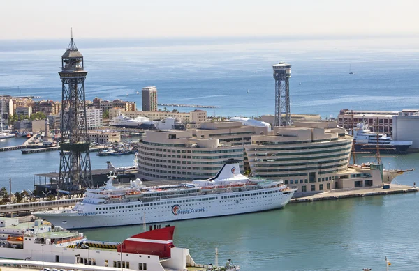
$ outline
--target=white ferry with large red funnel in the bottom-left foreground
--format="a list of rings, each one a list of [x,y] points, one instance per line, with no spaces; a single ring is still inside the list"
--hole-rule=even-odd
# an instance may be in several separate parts
[[[175,226],[154,225],[122,242],[103,242],[41,219],[19,223],[17,218],[0,217],[0,258],[69,263],[75,270],[88,270],[91,265],[121,270],[184,271],[194,266],[200,270],[240,270],[230,261],[226,267],[215,268],[196,264],[189,249],[175,247],[174,232]]]

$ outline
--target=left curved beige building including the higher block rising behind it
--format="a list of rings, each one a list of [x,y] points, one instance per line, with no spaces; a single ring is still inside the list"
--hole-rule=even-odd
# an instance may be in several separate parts
[[[235,122],[202,123],[201,129],[146,131],[138,144],[140,178],[196,180],[211,178],[226,160],[244,160],[244,145],[267,127]],[[244,163],[240,169],[244,169]]]

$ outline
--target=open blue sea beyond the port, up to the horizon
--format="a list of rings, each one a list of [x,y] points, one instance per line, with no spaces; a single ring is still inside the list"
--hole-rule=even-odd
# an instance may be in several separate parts
[[[153,85],[161,103],[220,107],[209,115],[273,114],[272,65],[282,60],[293,65],[295,114],[325,118],[344,108],[399,110],[419,102],[417,38],[75,42],[89,71],[90,100],[122,98],[140,105],[135,92]],[[11,43],[0,47],[0,94],[22,91],[60,100],[57,72],[68,41]],[[350,66],[354,75],[348,74]]]

